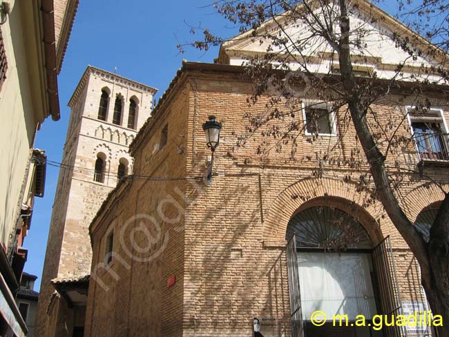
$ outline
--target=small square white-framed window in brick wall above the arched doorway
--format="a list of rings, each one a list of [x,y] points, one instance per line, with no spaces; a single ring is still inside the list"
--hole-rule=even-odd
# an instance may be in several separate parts
[[[334,112],[329,108],[306,106],[304,109],[307,135],[335,135]]]

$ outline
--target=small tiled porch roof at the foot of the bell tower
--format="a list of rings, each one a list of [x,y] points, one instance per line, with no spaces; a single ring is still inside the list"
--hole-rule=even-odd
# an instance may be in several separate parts
[[[66,299],[69,307],[82,307],[87,304],[89,278],[89,275],[73,278],[55,278],[51,282],[56,291]]]

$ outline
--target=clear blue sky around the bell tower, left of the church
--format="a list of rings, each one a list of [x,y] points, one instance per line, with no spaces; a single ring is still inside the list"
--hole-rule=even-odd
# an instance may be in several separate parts
[[[213,0],[106,1],[80,0],[68,50],[58,77],[61,120],[46,119],[37,133],[35,147],[46,150],[48,160],[61,162],[70,109],[68,99],[89,64],[158,88],[164,93],[182,59],[213,62],[218,48],[200,52],[177,44],[192,41],[191,26],[210,28],[222,37],[238,29],[213,12]],[[391,4],[390,4],[391,6]],[[32,227],[25,240],[28,261],[25,271],[38,276],[39,291],[48,227],[55,198],[59,168],[47,166],[44,198],[36,198]]]

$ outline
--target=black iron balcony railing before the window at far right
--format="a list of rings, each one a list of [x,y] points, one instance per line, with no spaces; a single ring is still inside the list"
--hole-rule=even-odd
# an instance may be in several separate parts
[[[429,132],[413,134],[419,160],[449,161],[449,133]]]

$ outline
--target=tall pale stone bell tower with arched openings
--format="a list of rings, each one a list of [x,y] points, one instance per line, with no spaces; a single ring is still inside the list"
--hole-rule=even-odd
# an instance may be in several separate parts
[[[68,102],[70,120],[53,204],[36,336],[78,336],[84,328],[92,251],[88,227],[120,178],[151,116],[156,89],[88,66]],[[82,335],[79,335],[82,336]]]

